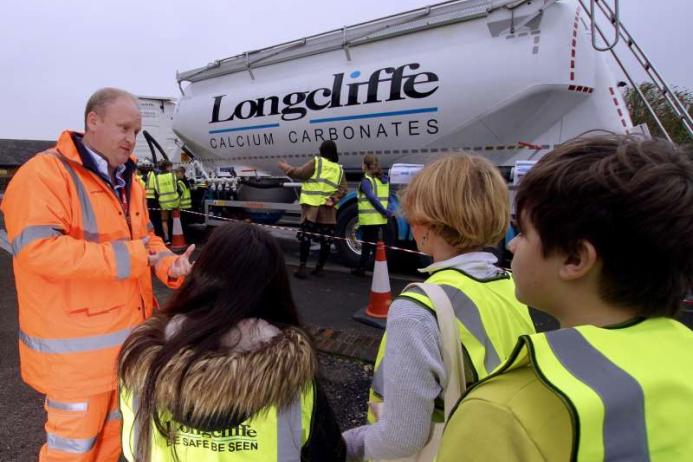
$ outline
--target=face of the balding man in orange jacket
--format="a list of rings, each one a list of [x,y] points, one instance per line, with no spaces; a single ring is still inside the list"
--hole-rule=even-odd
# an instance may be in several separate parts
[[[130,98],[120,97],[107,105],[101,114],[87,115],[89,144],[101,153],[111,167],[124,164],[142,129],[140,110]]]

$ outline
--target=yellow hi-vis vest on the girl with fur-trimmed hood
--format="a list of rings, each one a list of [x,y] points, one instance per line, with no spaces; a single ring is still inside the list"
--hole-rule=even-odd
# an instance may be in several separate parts
[[[152,422],[151,462],[285,462],[301,460],[301,448],[306,444],[312,426],[314,385],[296,397],[285,408],[269,407],[236,427],[220,431],[202,431],[171,420],[167,413],[162,423],[172,427],[172,438],[162,436]],[[123,455],[134,461],[137,428],[135,406],[137,395],[121,387],[120,412],[123,415],[121,444]]]

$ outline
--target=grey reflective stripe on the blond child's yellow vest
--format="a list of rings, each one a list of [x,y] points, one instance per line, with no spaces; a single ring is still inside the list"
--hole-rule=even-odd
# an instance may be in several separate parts
[[[467,330],[476,338],[476,340],[484,346],[484,367],[488,373],[491,373],[500,364],[500,357],[496,352],[496,347],[491,342],[491,339],[486,332],[486,327],[481,321],[481,313],[476,304],[470,299],[467,294],[447,284],[441,284],[440,287],[445,291],[445,294],[450,299],[452,309],[455,312],[455,317],[467,328]],[[413,287],[407,292],[415,292],[420,295],[426,295],[418,287]],[[470,358],[471,359],[471,358]]]

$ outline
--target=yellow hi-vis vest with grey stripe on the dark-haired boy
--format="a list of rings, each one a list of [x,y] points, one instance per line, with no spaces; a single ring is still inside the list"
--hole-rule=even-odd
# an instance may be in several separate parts
[[[691,460],[692,351],[669,318],[579,326],[522,336],[493,377],[534,368],[571,415],[571,461]]]

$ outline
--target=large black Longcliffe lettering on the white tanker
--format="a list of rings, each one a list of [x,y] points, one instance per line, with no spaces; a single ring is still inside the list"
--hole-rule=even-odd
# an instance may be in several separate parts
[[[416,70],[421,65],[410,63],[397,68],[385,67],[374,71],[368,80],[351,82],[344,85],[344,74],[333,74],[332,87],[318,88],[308,91],[289,93],[281,98],[283,107],[280,110],[279,96],[267,96],[257,99],[248,99],[236,104],[232,112],[222,112],[222,103],[227,95],[214,97],[212,106],[212,120],[210,124],[229,122],[231,120],[246,120],[250,118],[275,116],[281,114],[282,120],[299,120],[306,116],[308,110],[322,111],[328,108],[358,106],[360,104],[381,103],[378,99],[378,89],[381,84],[389,82],[389,97],[384,101],[397,101],[407,98],[426,98],[438,90],[438,85],[430,84],[438,82],[438,76],[433,72],[419,72],[405,74],[407,68]],[[352,72],[349,77],[356,79],[361,75],[360,71]],[[346,86],[347,100],[342,102],[342,89]],[[362,86],[367,87],[366,98],[363,100],[363,92],[359,92]],[[403,94],[404,93],[404,94]],[[230,115],[228,115],[230,114]]]

